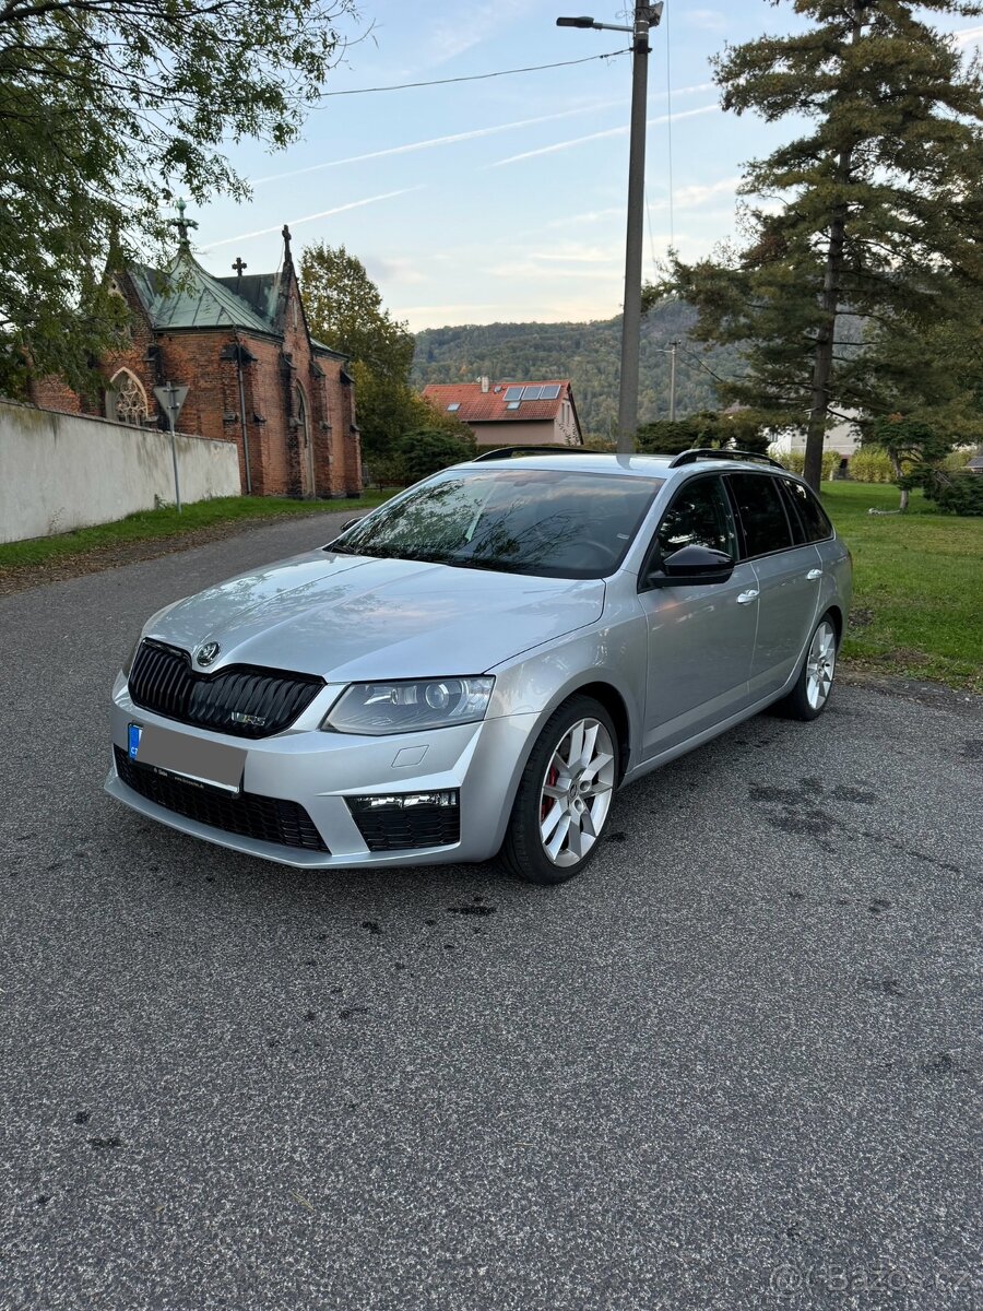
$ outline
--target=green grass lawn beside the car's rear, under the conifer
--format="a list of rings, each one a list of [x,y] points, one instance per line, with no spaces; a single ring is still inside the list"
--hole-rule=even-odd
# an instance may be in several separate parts
[[[983,692],[983,518],[938,514],[914,492],[823,482],[823,505],[853,555],[853,611],[844,654],[886,674]]]

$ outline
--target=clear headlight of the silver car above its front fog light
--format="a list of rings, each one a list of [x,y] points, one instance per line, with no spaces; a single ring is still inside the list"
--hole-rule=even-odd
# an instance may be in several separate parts
[[[484,720],[493,678],[421,678],[353,683],[321,725],[336,733],[415,733]]]

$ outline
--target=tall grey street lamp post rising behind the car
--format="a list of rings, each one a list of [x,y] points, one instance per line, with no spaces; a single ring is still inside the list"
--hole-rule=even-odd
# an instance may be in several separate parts
[[[642,326],[642,237],[645,220],[645,111],[649,85],[649,31],[658,26],[662,4],[636,4],[630,28],[594,18],[557,18],[557,28],[596,28],[632,33],[632,117],[628,157],[628,229],[625,295],[621,317],[621,375],[617,395],[617,452],[634,451],[638,427],[638,353]]]

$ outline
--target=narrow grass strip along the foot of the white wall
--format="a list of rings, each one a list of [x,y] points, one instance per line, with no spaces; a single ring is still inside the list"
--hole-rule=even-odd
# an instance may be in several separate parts
[[[275,519],[290,514],[341,513],[371,509],[388,499],[392,492],[370,492],[358,501],[294,501],[288,497],[229,496],[214,501],[197,501],[178,514],[173,507],[142,510],[115,523],[62,532],[55,538],[31,538],[29,541],[0,544],[0,570],[22,565],[46,564],[66,556],[84,555],[127,541],[176,538],[215,524]]]

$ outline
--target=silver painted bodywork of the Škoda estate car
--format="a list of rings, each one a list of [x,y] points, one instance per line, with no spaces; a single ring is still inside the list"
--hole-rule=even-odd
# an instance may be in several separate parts
[[[603,579],[527,577],[408,560],[312,551],[231,578],[160,611],[143,636],[190,656],[220,644],[208,667],[316,674],[326,686],[282,733],[244,741],[136,707],[121,673],[111,739],[156,725],[245,749],[242,791],[304,806],[330,855],[282,847],[189,819],[152,802],[110,767],[106,791],[132,809],[236,851],[298,867],[419,865],[485,860],[505,836],[522,771],[539,733],[573,694],[600,690],[623,708],[621,785],[764,709],[796,683],[817,619],[851,599],[843,543],[828,540],[741,561],[729,582],[640,590],[653,534],[697,476],[756,472],[759,464],[668,458],[547,455],[530,468],[663,479],[620,568]],[[471,465],[461,465],[468,469]],[[482,465],[488,468],[488,465]],[[784,475],[788,477],[788,475]],[[751,603],[738,598],[756,593]],[[494,675],[481,722],[381,737],[324,732],[353,682]],[[346,797],[460,789],[460,842],[370,851]]]

